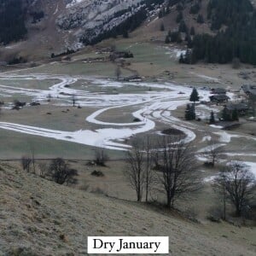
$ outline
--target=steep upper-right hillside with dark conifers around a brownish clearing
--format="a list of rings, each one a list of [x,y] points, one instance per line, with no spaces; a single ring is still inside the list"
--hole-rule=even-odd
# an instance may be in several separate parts
[[[175,15],[176,27],[171,26],[165,41],[166,44],[186,44],[188,50],[180,60],[182,63],[224,64],[238,60],[256,64],[253,2],[170,0],[169,3],[171,5],[161,10],[160,18],[170,18],[170,13]]]

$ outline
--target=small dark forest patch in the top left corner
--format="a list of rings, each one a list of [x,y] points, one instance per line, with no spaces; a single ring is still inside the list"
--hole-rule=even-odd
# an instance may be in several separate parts
[[[18,41],[26,32],[21,0],[0,1],[0,43]]]

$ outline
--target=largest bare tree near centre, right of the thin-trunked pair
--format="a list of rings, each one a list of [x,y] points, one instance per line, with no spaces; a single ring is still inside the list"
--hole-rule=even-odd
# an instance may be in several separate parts
[[[180,138],[166,136],[160,141],[160,182],[166,194],[167,207],[173,207],[179,197],[200,189],[195,173],[195,152],[190,144]]]

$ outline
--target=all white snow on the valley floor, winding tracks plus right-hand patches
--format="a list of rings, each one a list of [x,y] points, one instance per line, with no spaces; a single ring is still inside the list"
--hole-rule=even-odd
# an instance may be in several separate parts
[[[20,84],[26,84],[26,81],[52,80],[53,84],[45,90],[32,89],[32,86],[12,85],[12,81],[22,81]],[[41,83],[42,84],[42,83]],[[79,86],[78,86],[79,84]],[[85,85],[84,85],[85,84]],[[87,86],[87,85],[88,86]],[[126,87],[125,87],[126,86]],[[125,88],[131,87],[130,92]],[[132,88],[134,86],[134,92]],[[26,88],[25,88],[26,87]],[[91,91],[90,89],[94,90]],[[148,90],[151,88],[151,90]],[[124,90],[123,90],[124,89]],[[139,90],[138,90],[139,89]],[[171,83],[146,83],[146,82],[118,82],[111,79],[86,77],[86,76],[69,76],[69,75],[48,75],[48,74],[28,74],[15,75],[12,73],[0,74],[0,96],[5,98],[13,98],[15,95],[27,96],[33,102],[44,102],[49,104],[47,99],[49,95],[58,106],[70,106],[72,97],[75,96],[77,104],[81,107],[93,107],[97,110],[84,116],[84,123],[96,125],[96,130],[88,129],[79,131],[65,131],[65,125],[61,131],[53,130],[51,127],[43,128],[32,125],[20,125],[16,123],[0,122],[0,128],[3,130],[15,131],[38,137],[48,137],[55,140],[67,141],[70,143],[79,143],[101,148],[127,150],[130,148],[125,143],[125,139],[133,137],[137,134],[147,131],[154,131],[156,123],[162,123],[182,131],[185,137],[185,143],[192,142],[196,139],[201,131],[201,138],[198,140],[198,160],[205,160],[200,157],[202,152],[207,151],[206,142],[212,137],[218,137],[216,147],[224,147],[228,145],[233,138],[239,139],[243,137],[245,140],[256,140],[255,137],[245,136],[242,134],[234,134],[228,131],[220,130],[218,127],[209,127],[211,132],[207,134],[202,130],[200,125],[192,124],[182,119],[177,119],[172,112],[178,107],[189,103],[191,87],[171,84]],[[209,90],[198,90],[201,101],[208,101],[210,96]],[[232,94],[229,94],[232,98]],[[11,101],[11,100],[10,100]],[[53,107],[54,108],[54,107]],[[114,111],[131,112],[131,115],[139,119],[138,122],[110,122],[106,121],[108,114]],[[132,109],[132,110],[131,110]],[[218,108],[209,108],[206,105],[200,105],[196,108],[197,115],[207,117],[208,113],[213,110],[218,113]],[[109,113],[108,113],[109,112]],[[36,113],[35,113],[36,114]],[[104,120],[101,117],[104,116]],[[112,118],[113,119],[113,118]],[[108,120],[108,118],[107,118]],[[65,124],[65,120],[63,120]],[[226,153],[227,156],[255,156],[241,152]],[[256,172],[255,165],[250,164],[253,172]],[[205,181],[212,181],[212,177],[206,178]]]

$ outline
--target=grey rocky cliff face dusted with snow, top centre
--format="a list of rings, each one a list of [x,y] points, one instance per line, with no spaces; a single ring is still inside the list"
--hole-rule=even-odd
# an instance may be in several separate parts
[[[157,3],[164,1],[151,2],[149,5],[145,0],[65,0],[67,9],[57,17],[56,26],[61,30],[73,30],[77,38],[90,44],[139,12],[158,9]]]

